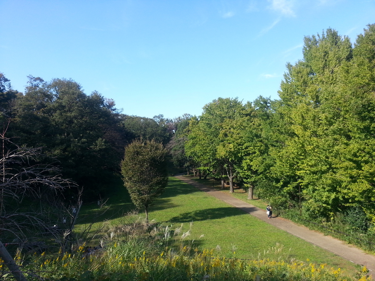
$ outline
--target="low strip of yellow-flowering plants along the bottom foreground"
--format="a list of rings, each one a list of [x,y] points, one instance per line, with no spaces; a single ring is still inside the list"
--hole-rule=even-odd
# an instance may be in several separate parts
[[[112,247],[117,247],[113,245]],[[214,250],[204,250],[192,257],[171,251],[162,252],[159,256],[146,254],[134,256],[131,261],[121,254],[108,259],[105,256],[84,257],[78,252],[73,256],[64,256],[61,261],[53,259],[42,263],[41,268],[53,272],[55,280],[305,280],[305,281],[344,281],[354,280],[341,274],[340,269],[327,268],[326,265],[315,265],[305,262],[284,262],[259,260],[245,262],[239,259],[227,259],[216,256]],[[89,260],[90,259],[90,260]],[[42,262],[42,261],[41,261]],[[81,269],[81,270],[78,270]],[[355,280],[371,280],[366,277],[363,268]],[[303,278],[303,279],[302,279]]]

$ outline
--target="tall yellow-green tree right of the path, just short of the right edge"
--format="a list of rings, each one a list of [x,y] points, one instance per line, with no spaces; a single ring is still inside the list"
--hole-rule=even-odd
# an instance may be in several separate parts
[[[339,73],[352,48],[348,37],[332,29],[304,41],[303,60],[287,64],[279,91],[275,129],[283,144],[271,150],[272,171],[291,200],[297,201],[302,190],[311,215],[332,217],[342,196],[335,175],[347,141],[341,109],[348,106]]]

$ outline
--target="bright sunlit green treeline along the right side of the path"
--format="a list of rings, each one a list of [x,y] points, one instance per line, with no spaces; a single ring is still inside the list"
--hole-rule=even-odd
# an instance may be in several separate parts
[[[327,29],[304,39],[279,99],[219,98],[174,136],[175,163],[248,188],[278,209],[375,224],[375,25],[354,46]],[[179,132],[177,132],[179,133]],[[181,143],[184,143],[182,146]],[[180,161],[180,162],[178,162]]]

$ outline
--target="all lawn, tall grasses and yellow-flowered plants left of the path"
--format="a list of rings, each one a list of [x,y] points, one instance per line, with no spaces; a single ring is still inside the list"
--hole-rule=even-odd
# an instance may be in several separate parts
[[[20,253],[16,260],[34,274],[72,281],[203,280],[207,275],[208,280],[352,280],[360,270],[176,178],[169,178],[166,192],[150,208],[154,221],[143,228],[142,218],[129,222],[129,216],[120,215],[133,206],[121,185],[114,190],[117,196],[106,203],[108,213],[98,217],[110,214],[110,219],[96,239],[78,241],[71,252]],[[90,214],[85,208],[83,216]],[[76,229],[83,227],[77,224]],[[7,274],[4,266],[1,270]]]

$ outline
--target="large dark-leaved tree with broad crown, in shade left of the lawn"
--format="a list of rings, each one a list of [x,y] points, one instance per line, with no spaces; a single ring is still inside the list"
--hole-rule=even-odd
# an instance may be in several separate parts
[[[60,161],[64,177],[84,186],[86,197],[96,197],[119,172],[123,155],[114,102],[97,92],[86,95],[72,80],[29,78],[17,99],[13,135],[21,146],[45,147]]]

